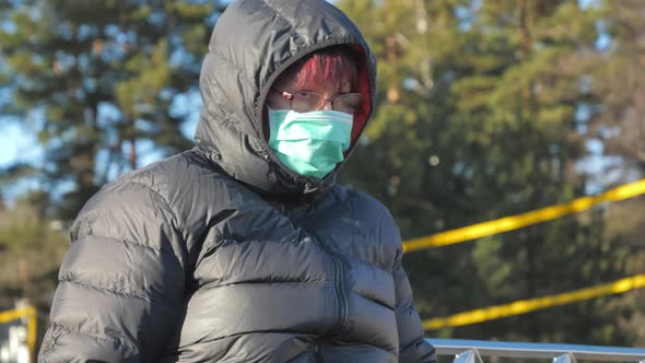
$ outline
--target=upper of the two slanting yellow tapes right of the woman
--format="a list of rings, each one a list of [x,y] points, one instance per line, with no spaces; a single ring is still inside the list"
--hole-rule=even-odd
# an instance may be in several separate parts
[[[601,195],[583,197],[563,204],[555,204],[531,212],[511,215],[489,222],[437,233],[427,237],[408,239],[403,242],[403,253],[411,253],[424,248],[453,245],[494,234],[518,230],[530,224],[537,224],[556,218],[582,212],[606,201],[619,201],[645,194],[645,179],[620,186]]]

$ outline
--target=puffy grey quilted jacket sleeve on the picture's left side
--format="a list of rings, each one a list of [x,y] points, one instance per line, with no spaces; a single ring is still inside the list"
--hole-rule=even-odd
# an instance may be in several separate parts
[[[38,362],[154,362],[184,297],[176,225],[146,185],[114,184],[94,196],[72,226]]]

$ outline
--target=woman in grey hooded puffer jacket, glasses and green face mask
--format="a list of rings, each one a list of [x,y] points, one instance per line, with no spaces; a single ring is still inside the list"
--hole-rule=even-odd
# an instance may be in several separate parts
[[[376,66],[322,0],[218,21],[190,151],[80,212],[40,362],[434,362],[388,211],[335,184]]]

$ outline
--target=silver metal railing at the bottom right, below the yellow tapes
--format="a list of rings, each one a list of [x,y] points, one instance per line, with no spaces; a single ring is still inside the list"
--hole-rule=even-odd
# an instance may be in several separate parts
[[[427,341],[435,347],[437,355],[454,355],[454,363],[483,363],[482,356],[550,359],[554,363],[576,363],[577,360],[645,363],[645,349],[643,348],[466,339],[427,339]]]

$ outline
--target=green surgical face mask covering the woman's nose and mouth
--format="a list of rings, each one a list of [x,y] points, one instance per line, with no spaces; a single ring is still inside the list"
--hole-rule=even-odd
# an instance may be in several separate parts
[[[344,160],[352,122],[352,115],[337,110],[269,108],[269,147],[295,173],[322,178]]]

